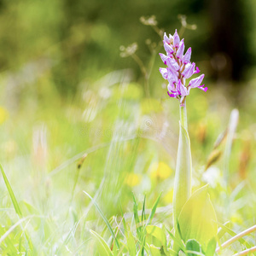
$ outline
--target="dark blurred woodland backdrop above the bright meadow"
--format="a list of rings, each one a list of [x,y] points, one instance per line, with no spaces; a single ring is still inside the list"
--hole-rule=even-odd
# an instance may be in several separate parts
[[[155,15],[159,27],[173,33],[180,28],[177,15],[186,15],[197,30],[183,36],[194,60],[206,61],[208,77],[241,80],[255,65],[255,9],[253,0],[2,0],[0,70],[44,66],[61,94],[74,93],[84,79],[94,81],[116,69],[132,67],[138,77],[137,65],[119,58],[119,46],[137,42],[147,61],[145,40],[159,40],[139,18]]]

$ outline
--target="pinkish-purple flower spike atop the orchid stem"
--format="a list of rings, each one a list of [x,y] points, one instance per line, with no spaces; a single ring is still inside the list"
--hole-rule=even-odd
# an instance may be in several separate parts
[[[168,96],[177,98],[181,106],[183,106],[191,89],[208,90],[207,87],[204,87],[204,84],[201,85],[205,75],[201,74],[201,76],[191,79],[186,85],[186,79],[190,79],[194,74],[200,73],[200,69],[195,67],[195,62],[190,62],[191,47],[184,54],[184,39],[180,40],[177,30],[175,30],[173,36],[169,34],[169,37],[165,32],[163,42],[166,55],[160,53],[160,58],[167,67],[161,67],[160,73],[169,83],[167,86]]]

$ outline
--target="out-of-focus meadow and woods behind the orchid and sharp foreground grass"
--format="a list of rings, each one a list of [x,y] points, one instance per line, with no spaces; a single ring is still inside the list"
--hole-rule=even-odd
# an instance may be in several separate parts
[[[44,216],[27,229],[45,255],[62,252],[63,236],[78,223],[68,241],[73,251],[87,247],[90,228],[102,229],[83,190],[96,196],[108,218],[120,214],[120,206],[132,211],[132,191],[138,201],[147,194],[149,206],[164,191],[160,207],[167,208],[158,221],[172,225],[166,215],[171,214],[178,102],[162,86],[158,51],[149,50],[160,37],[140,18],[151,15],[167,33],[181,30],[179,15],[197,26],[183,32],[209,88],[191,91],[187,101],[194,188],[210,183],[221,223],[231,219],[241,230],[253,224],[254,0],[0,0],[1,162],[24,215]],[[120,46],[134,42],[145,67],[152,64],[149,96],[137,62],[120,57]],[[224,153],[223,143],[215,152],[221,156],[207,166],[233,108],[240,120],[232,154]],[[222,183],[227,161],[228,188]],[[17,218],[2,179],[0,185],[3,234]],[[228,202],[225,193],[232,195]],[[20,236],[12,236],[18,243]],[[1,253],[9,248],[3,244]]]

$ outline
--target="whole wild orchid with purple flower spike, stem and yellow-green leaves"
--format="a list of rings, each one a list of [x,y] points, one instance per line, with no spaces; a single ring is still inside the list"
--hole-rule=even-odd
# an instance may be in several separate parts
[[[184,40],[180,40],[177,30],[173,36],[169,34],[167,37],[165,33],[163,43],[166,55],[160,53],[160,57],[167,67],[160,67],[160,73],[168,81],[168,95],[180,102],[179,141],[172,201],[175,233],[185,243],[188,242],[188,245],[191,239],[199,242],[202,251],[207,252],[208,247],[216,247],[217,218],[207,194],[207,186],[198,189],[193,195],[191,193],[192,159],[186,111],[186,96],[190,90],[199,88],[207,91],[207,87],[201,85],[204,74],[190,79],[194,74],[200,73],[200,70],[195,62],[190,61],[191,48],[184,54]],[[186,83],[186,79],[190,79],[189,83]],[[177,243],[174,243],[173,249],[176,253],[183,250]]]

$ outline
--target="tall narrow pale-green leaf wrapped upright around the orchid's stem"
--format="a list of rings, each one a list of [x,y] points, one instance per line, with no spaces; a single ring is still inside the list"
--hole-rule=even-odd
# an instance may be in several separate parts
[[[173,191],[173,218],[177,224],[177,218],[186,201],[191,195],[192,160],[190,152],[189,134],[179,123],[179,140],[177,148],[177,164]]]

